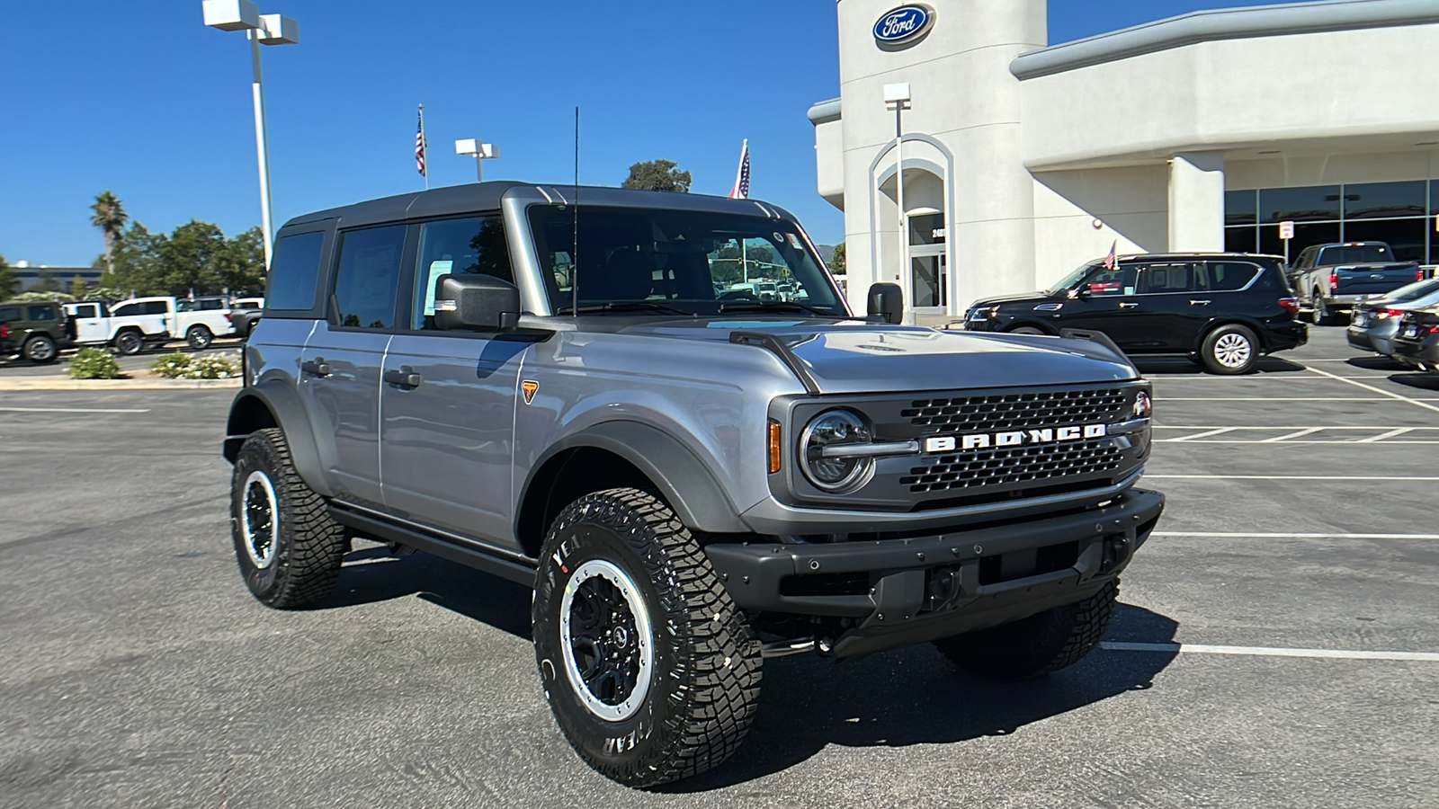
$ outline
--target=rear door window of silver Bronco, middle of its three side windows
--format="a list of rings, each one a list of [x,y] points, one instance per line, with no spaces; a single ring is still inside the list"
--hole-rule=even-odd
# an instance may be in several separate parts
[[[340,240],[335,307],[340,325],[394,327],[394,297],[400,282],[404,226],[350,230]]]

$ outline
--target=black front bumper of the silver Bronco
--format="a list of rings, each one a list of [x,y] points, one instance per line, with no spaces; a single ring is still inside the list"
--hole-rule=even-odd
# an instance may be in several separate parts
[[[1105,508],[905,540],[715,543],[705,547],[748,612],[839,616],[837,658],[922,643],[1084,600],[1148,538],[1164,495],[1128,489]]]

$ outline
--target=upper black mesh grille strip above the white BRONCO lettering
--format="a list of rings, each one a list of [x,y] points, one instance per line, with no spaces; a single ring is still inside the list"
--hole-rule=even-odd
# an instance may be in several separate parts
[[[1107,423],[1124,417],[1124,389],[1039,390],[953,399],[915,399],[901,416],[924,432],[991,432],[1056,425]]]

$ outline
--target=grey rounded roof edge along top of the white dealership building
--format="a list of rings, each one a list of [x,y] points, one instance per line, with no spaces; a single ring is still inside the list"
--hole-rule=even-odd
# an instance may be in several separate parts
[[[1210,9],[1030,50],[1014,58],[1009,72],[1023,81],[1202,42],[1429,23],[1439,23],[1439,4],[1433,0],[1322,0]],[[810,119],[813,111],[812,107]]]

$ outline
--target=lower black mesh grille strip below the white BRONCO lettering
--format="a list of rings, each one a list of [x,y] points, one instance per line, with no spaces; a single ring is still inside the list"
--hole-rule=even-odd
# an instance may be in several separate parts
[[[914,466],[899,478],[899,485],[909,487],[915,494],[1003,487],[1112,472],[1121,462],[1121,451],[1109,438],[973,449],[963,455],[940,455],[928,465]]]

